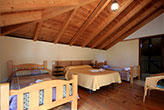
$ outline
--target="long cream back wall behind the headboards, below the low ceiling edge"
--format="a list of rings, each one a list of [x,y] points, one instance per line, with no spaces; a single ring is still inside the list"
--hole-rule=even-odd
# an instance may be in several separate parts
[[[42,63],[48,61],[48,68],[52,69],[53,60],[106,60],[106,51],[81,48],[47,42],[0,37],[0,75],[3,81],[8,78],[7,61],[15,64]]]

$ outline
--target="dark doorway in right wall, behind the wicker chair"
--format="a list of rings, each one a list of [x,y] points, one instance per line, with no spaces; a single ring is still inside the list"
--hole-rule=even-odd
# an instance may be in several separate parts
[[[164,35],[140,38],[141,77],[164,72]]]

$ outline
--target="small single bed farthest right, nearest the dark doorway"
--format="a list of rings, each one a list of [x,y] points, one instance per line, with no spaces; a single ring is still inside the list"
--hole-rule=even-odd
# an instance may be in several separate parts
[[[96,68],[118,71],[120,73],[121,79],[128,81],[131,84],[133,84],[134,78],[138,77],[138,80],[140,79],[140,66],[129,66],[125,68],[112,67],[110,65],[107,65],[107,61],[104,62],[95,61],[95,66]]]

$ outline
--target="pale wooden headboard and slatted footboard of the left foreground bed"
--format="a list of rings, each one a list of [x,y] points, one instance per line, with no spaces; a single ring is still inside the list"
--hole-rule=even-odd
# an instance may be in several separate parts
[[[13,70],[18,69],[47,69],[47,61],[43,65],[39,64],[21,64],[13,65],[12,61],[8,62],[8,71],[12,75]],[[51,74],[51,73],[50,73]],[[72,95],[69,95],[69,86],[72,85]],[[63,98],[63,86],[66,86],[66,97]],[[56,87],[56,101],[52,101],[52,88]],[[39,91],[44,90],[44,104],[39,106]],[[0,100],[1,110],[9,110],[9,96],[17,95],[17,110],[23,109],[23,94],[29,93],[29,109],[30,110],[46,110],[61,104],[71,102],[72,110],[77,110],[77,75],[73,75],[73,79],[66,80],[49,80],[30,85],[19,90],[10,90],[9,83],[0,84]],[[38,95],[38,97],[36,97]]]

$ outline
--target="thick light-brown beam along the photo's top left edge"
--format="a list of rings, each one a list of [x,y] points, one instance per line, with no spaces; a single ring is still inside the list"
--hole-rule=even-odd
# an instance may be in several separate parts
[[[0,13],[77,6],[80,3],[82,0],[0,0]]]

